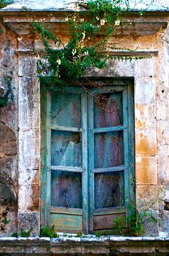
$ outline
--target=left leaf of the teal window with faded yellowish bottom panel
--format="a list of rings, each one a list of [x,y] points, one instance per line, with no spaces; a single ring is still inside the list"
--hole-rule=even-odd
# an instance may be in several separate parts
[[[50,95],[48,105],[48,206],[56,231],[82,230],[84,129],[82,90],[71,87]],[[84,125],[84,124],[83,124]],[[82,168],[83,167],[83,168]]]

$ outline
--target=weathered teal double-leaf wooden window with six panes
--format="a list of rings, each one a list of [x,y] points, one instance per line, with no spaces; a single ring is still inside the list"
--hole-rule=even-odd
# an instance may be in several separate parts
[[[42,93],[43,225],[89,233],[129,216],[132,87],[117,84],[88,92],[68,87],[47,99]]]

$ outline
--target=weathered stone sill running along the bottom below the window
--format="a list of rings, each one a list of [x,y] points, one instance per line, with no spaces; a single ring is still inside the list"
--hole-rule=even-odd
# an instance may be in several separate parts
[[[169,238],[0,238],[0,255],[169,255]]]

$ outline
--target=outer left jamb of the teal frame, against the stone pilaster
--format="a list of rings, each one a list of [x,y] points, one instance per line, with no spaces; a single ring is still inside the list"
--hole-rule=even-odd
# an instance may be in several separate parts
[[[46,88],[40,87],[40,225],[46,223]]]

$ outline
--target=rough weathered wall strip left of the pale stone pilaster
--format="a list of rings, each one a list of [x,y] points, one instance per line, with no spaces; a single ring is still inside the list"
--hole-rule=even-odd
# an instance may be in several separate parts
[[[0,87],[11,78],[14,102],[0,110],[0,235],[17,230],[18,196],[18,61],[16,35],[4,28],[0,34]],[[6,223],[9,221],[9,223]]]

